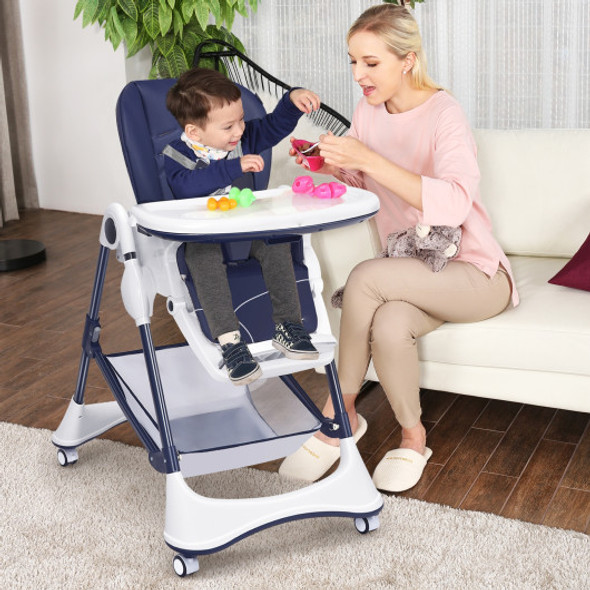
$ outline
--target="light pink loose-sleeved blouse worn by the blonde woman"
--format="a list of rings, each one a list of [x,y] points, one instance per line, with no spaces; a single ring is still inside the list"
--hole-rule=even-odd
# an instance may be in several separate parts
[[[371,106],[362,98],[349,135],[422,177],[419,211],[362,172],[341,171],[343,181],[379,197],[376,222],[381,242],[385,244],[391,232],[417,223],[460,225],[463,234],[455,260],[470,262],[490,277],[502,264],[512,283],[512,303],[518,305],[510,263],[481,201],[477,147],[459,103],[441,90],[414,109],[391,114],[384,104]]]

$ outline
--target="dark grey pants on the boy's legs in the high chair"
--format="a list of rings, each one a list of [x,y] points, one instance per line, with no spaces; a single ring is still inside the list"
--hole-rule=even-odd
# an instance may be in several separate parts
[[[260,263],[275,324],[301,322],[291,245],[266,244],[262,240],[253,240],[250,256]],[[185,260],[213,338],[239,330],[221,244],[188,242]]]

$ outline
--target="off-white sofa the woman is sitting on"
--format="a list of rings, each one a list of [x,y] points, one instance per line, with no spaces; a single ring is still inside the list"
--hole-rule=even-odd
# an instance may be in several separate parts
[[[547,283],[590,232],[590,129],[476,130],[475,137],[482,198],[521,302],[422,337],[421,385],[590,412],[590,292]],[[372,221],[315,234],[313,244],[338,335],[340,311],[330,296],[381,247]],[[367,378],[378,380],[372,366]]]

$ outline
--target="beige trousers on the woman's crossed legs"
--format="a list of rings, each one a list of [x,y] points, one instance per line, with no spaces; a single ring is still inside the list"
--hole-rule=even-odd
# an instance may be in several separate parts
[[[413,258],[365,260],[351,272],[342,301],[338,374],[343,394],[357,394],[369,361],[398,422],[420,420],[416,338],[444,322],[475,322],[503,311],[510,281],[492,278],[467,262],[440,272]]]

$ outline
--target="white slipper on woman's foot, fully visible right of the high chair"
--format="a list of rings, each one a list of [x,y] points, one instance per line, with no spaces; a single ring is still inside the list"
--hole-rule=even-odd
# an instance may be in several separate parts
[[[422,477],[422,472],[432,451],[426,447],[424,455],[412,449],[389,451],[373,472],[373,483],[385,492],[404,492],[413,488]]]

